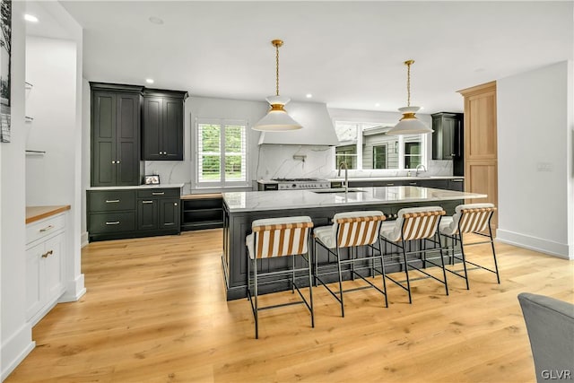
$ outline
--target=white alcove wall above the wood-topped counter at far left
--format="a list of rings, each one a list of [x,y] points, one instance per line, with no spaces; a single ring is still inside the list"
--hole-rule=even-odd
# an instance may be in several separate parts
[[[74,41],[26,38],[26,148],[46,151],[26,157],[26,205],[74,202],[75,57]]]

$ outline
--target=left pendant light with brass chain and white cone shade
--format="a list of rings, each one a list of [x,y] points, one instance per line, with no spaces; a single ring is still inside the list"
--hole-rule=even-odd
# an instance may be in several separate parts
[[[265,99],[269,102],[271,109],[252,129],[263,132],[286,132],[300,129],[303,126],[291,118],[283,108],[290,101],[289,98],[279,95],[279,47],[283,46],[283,40],[274,39],[271,44],[275,47],[275,95]]]

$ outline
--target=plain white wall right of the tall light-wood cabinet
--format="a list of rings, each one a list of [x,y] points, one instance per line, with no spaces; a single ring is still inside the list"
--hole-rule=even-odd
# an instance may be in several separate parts
[[[497,80],[497,237],[570,259],[573,79],[561,62]]]

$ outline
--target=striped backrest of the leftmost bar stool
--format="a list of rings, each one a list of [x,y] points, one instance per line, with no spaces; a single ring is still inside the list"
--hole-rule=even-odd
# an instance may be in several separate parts
[[[255,257],[295,256],[308,252],[310,217],[285,217],[256,220],[251,229],[255,234]]]

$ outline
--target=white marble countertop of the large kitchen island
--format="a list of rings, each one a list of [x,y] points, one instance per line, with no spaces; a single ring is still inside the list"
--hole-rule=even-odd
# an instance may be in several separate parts
[[[305,209],[328,206],[404,204],[484,198],[486,195],[431,187],[352,187],[349,193],[313,193],[310,190],[279,190],[222,193],[230,212]]]

